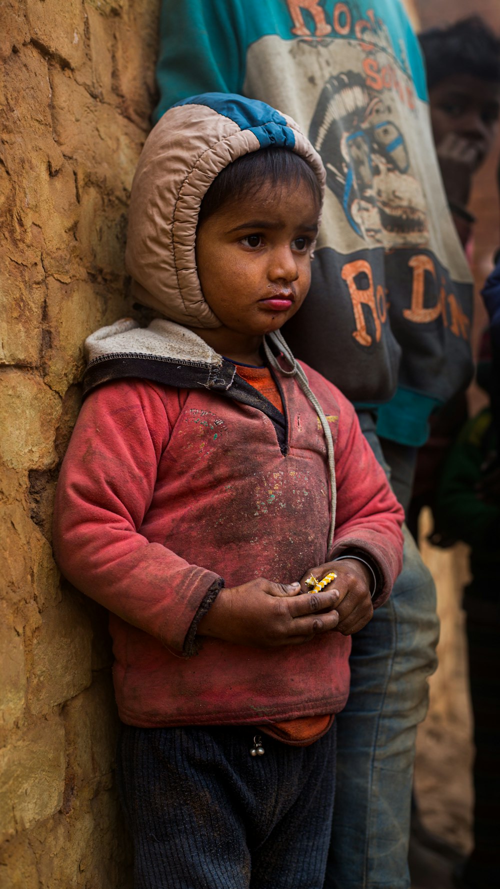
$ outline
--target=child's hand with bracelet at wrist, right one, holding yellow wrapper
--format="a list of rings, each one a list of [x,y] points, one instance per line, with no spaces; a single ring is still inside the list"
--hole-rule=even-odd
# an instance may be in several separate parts
[[[335,629],[343,633],[343,636],[351,636],[352,633],[358,633],[363,629],[373,617],[374,606],[370,596],[373,577],[367,566],[358,559],[345,558],[340,562],[327,562],[325,565],[311,568],[302,577],[302,589],[307,589],[305,581],[311,573],[322,581],[331,571],[335,571],[337,576],[335,581],[331,581],[325,587],[325,591],[331,589],[335,596],[334,607],[339,616]]]

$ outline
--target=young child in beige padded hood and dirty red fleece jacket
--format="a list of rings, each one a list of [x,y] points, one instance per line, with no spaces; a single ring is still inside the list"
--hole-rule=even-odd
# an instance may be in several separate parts
[[[278,334],[309,289],[324,179],[262,102],[172,108],[142,151],[126,251],[159,316],[87,340],[54,540],[111,613],[141,889],[323,884],[350,635],[402,556],[351,404]]]

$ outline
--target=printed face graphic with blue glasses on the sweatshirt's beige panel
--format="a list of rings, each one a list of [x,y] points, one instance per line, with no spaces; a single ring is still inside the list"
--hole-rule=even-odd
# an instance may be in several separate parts
[[[329,78],[309,137],[327,169],[327,187],[359,236],[388,248],[427,242],[425,200],[405,140],[391,106],[362,76]]]

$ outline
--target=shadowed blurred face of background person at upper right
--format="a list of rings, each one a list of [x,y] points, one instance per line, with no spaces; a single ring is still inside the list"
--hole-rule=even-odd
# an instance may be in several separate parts
[[[454,74],[429,91],[431,123],[438,148],[451,136],[469,148],[471,172],[493,147],[500,115],[500,84],[469,74]]]

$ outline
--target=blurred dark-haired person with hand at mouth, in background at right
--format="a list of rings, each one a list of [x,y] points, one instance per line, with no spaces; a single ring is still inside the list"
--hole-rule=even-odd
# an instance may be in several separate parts
[[[472,179],[495,145],[500,115],[500,39],[479,16],[431,28],[418,37],[427,70],[432,135],[450,211],[472,262],[475,219],[468,209]],[[448,451],[467,420],[462,390],[431,420],[431,436],[416,464],[407,523],[415,539],[418,517],[431,509]],[[453,541],[434,525],[431,540]]]

